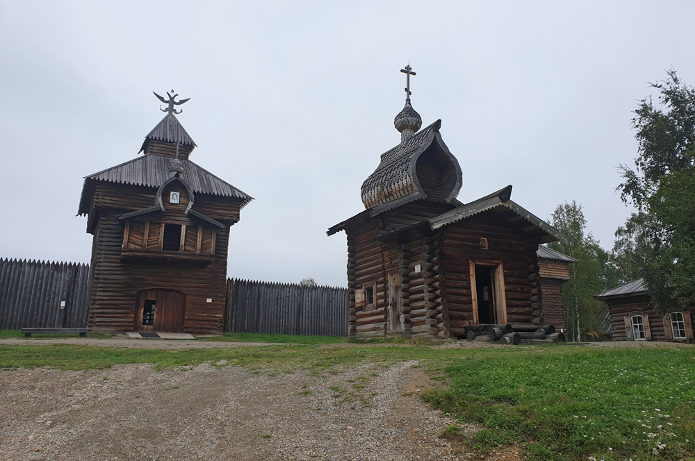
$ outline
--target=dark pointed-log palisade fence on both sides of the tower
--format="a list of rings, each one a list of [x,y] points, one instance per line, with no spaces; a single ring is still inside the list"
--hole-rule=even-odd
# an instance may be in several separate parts
[[[89,265],[0,259],[0,330],[86,326],[90,285]],[[347,290],[228,279],[223,328],[346,336]]]

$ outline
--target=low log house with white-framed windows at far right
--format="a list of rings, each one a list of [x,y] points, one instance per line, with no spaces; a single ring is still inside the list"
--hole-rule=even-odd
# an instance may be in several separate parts
[[[594,296],[608,305],[616,341],[693,341],[695,306],[657,314],[644,285],[637,279]]]

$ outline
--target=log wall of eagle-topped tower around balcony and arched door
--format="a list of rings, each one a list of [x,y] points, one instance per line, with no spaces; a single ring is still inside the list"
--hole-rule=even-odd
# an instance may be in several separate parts
[[[136,296],[163,288],[186,294],[184,332],[222,333],[227,288],[229,228],[217,231],[214,261],[207,267],[122,262],[123,210],[103,210],[92,246],[92,293],[89,326],[94,331],[132,331]],[[172,260],[175,258],[172,258]],[[207,299],[212,299],[211,303]]]

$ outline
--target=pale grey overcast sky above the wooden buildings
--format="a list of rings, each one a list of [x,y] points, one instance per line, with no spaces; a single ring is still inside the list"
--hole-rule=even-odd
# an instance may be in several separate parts
[[[0,0],[0,257],[88,262],[82,177],[136,157],[172,86],[191,160],[256,199],[229,275],[347,284],[362,182],[414,108],[464,171],[459,200],[507,184],[542,219],[584,205],[606,249],[649,81],[695,85],[692,1]]]

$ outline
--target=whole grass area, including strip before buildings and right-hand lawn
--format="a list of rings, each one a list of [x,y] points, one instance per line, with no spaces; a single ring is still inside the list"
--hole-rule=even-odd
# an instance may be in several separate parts
[[[434,349],[418,344],[326,347],[337,338],[262,335],[253,341],[291,346],[160,351],[40,344],[0,346],[0,367],[92,369],[150,362],[158,368],[195,365],[305,369],[321,376],[363,362],[384,366],[422,360],[443,387],[423,399],[485,427],[467,450],[480,453],[521,443],[532,460],[694,460],[695,349],[509,346]],[[252,341],[244,335],[215,340]],[[301,343],[301,344],[297,344]],[[222,365],[224,363],[224,365]],[[456,441],[459,431],[446,431]]]

